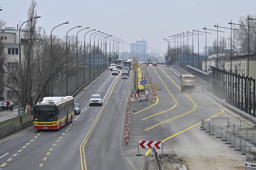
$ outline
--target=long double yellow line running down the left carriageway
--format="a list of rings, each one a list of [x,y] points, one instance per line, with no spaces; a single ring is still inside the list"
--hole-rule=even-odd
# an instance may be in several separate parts
[[[117,82],[118,82],[120,76],[121,76],[121,74],[118,75],[118,77],[117,77],[117,79],[116,79],[116,82],[114,83],[114,85],[113,85],[111,91],[109,92],[109,95],[108,95],[108,97],[106,98],[106,103],[108,102],[110,96],[112,95],[113,90],[114,90],[114,88],[115,88],[115,86],[116,86],[116,84],[117,84]],[[97,124],[97,122],[98,122],[98,120],[99,120],[99,117],[101,116],[101,113],[103,112],[103,109],[104,109],[105,107],[106,107],[106,104],[104,104],[103,107],[101,107],[101,109],[99,110],[99,113],[98,113],[98,115],[96,116],[96,118],[95,118],[95,120],[94,120],[94,122],[93,122],[93,125],[92,125],[91,128],[89,129],[88,133],[87,133],[86,136],[84,137],[84,140],[83,140],[83,142],[81,143],[81,145],[80,145],[80,147],[79,147],[80,158],[81,158],[81,168],[82,168],[82,170],[83,170],[83,169],[87,170],[84,147],[85,147],[85,145],[86,145],[86,143],[87,143],[87,141],[88,141],[88,138],[90,137],[90,135],[91,135],[91,133],[92,133],[94,127],[96,126],[96,124]],[[82,155],[82,150],[83,150],[83,155]]]

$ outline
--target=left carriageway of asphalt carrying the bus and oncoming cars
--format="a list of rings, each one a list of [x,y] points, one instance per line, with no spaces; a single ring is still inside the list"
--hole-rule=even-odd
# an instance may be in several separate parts
[[[141,167],[141,163],[131,163],[122,152],[131,77],[132,73],[128,80],[122,80],[121,76],[112,76],[106,70],[76,95],[81,115],[75,115],[72,123],[59,131],[32,130],[0,145],[0,168],[106,170]],[[103,97],[103,106],[89,106],[88,97],[95,93]]]

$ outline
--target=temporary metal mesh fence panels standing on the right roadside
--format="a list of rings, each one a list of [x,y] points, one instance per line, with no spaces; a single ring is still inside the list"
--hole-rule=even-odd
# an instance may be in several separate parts
[[[243,120],[242,117],[232,118],[202,118],[201,127],[209,135],[222,138],[225,144],[233,145],[242,152],[256,151],[256,128],[255,124]]]

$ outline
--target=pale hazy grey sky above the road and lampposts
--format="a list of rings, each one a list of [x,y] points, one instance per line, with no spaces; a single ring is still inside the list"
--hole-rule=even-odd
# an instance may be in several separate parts
[[[0,18],[7,21],[7,27],[27,19],[31,0],[2,0]],[[228,22],[237,23],[240,16],[256,14],[256,0],[36,0],[38,27],[44,27],[47,34],[56,25],[69,21],[69,24],[56,28],[53,33],[65,36],[67,30],[77,25],[90,27],[109,33],[126,43],[147,40],[148,46],[166,51],[163,38],[175,33],[192,31],[199,27],[216,29],[213,25],[230,27]],[[254,21],[251,21],[254,22]],[[79,28],[72,30],[75,35]],[[220,29],[221,30],[221,29]],[[230,35],[229,30],[219,36]],[[79,32],[83,38],[86,30]],[[217,32],[207,35],[207,45],[212,45]],[[197,38],[194,38],[197,52]],[[88,41],[88,38],[86,38]],[[189,39],[192,43],[192,38]],[[172,43],[174,46],[174,43]],[[199,50],[205,45],[205,36],[199,38]],[[120,46],[121,47],[121,46]],[[124,51],[130,51],[124,45]]]

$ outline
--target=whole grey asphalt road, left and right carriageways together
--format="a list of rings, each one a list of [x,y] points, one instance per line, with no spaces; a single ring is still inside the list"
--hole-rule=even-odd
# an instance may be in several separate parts
[[[231,159],[234,165],[243,165],[241,153],[209,137],[198,124],[201,117],[236,115],[199,91],[181,93],[179,77],[166,67],[150,67],[149,73],[153,83],[161,84],[158,103],[150,107],[150,101],[132,102],[131,110],[136,112],[131,113],[129,146],[124,146],[123,134],[133,73],[122,80],[106,70],[76,95],[81,115],[75,115],[72,123],[59,131],[32,130],[0,145],[0,168],[140,170],[144,156],[135,156],[139,140],[162,141],[163,152],[175,150],[190,169],[232,169]],[[95,93],[103,97],[103,106],[89,106],[88,97]],[[149,152],[140,149],[140,153]]]

